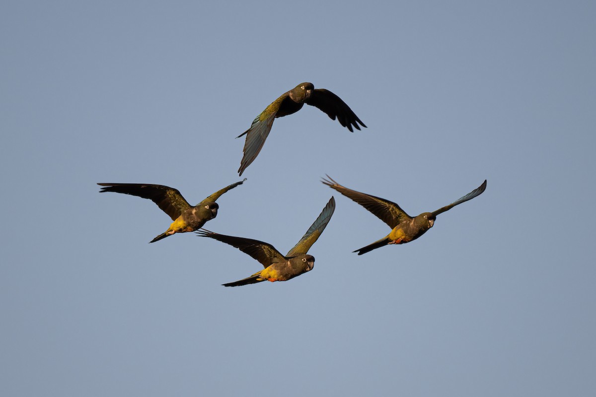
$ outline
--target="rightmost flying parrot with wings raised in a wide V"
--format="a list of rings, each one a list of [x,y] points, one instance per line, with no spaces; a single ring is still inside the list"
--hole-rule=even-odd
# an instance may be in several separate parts
[[[366,193],[356,192],[356,190],[348,189],[347,187],[339,185],[339,183],[331,179],[329,176],[327,176],[327,178],[328,179],[323,179],[322,183],[332,187],[333,189],[342,193],[344,196],[362,205],[362,207],[366,208],[368,211],[373,212],[374,215],[376,215],[380,220],[392,228],[389,235],[375,241],[370,245],[353,251],[358,252],[358,255],[366,254],[367,252],[373,251],[373,249],[380,248],[384,245],[409,243],[412,240],[417,239],[418,237],[424,235],[427,230],[433,227],[434,220],[437,215],[451,210],[451,208],[461,204],[462,202],[479,196],[486,189],[485,180],[485,182],[483,182],[482,185],[480,185],[477,189],[472,190],[470,193],[452,202],[451,204],[446,205],[443,208],[439,208],[439,210],[434,212],[423,212],[417,217],[412,218],[406,214],[406,212],[403,211],[399,205],[395,204],[395,202],[391,202],[380,197],[367,195]]]

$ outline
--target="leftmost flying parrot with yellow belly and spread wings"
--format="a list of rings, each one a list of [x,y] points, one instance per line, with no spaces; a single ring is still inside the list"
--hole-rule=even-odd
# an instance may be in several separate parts
[[[219,205],[215,202],[219,196],[238,185],[242,185],[244,180],[232,183],[213,193],[194,207],[182,197],[178,189],[163,185],[147,185],[144,183],[98,183],[102,187],[100,193],[116,192],[127,195],[139,196],[150,199],[162,209],[163,212],[170,215],[173,222],[170,227],[161,235],[155,237],[150,243],[164,239],[174,233],[194,232],[218,215]]]

